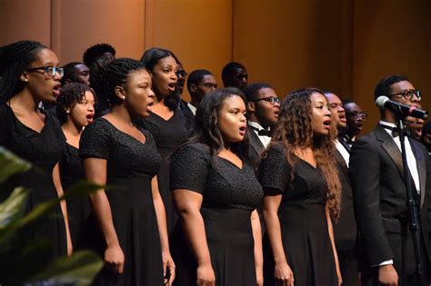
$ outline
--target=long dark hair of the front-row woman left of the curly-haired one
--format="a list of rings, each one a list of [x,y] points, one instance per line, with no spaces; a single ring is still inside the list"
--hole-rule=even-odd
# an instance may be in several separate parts
[[[199,104],[195,116],[195,128],[186,143],[204,143],[216,155],[224,146],[223,135],[218,128],[218,113],[228,97],[239,96],[246,104],[246,97],[236,87],[219,88],[205,95]],[[231,143],[232,152],[241,159],[248,159],[248,137],[238,143]]]

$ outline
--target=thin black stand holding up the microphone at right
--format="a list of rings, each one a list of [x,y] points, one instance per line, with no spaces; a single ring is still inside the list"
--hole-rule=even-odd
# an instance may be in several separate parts
[[[407,156],[406,156],[406,135],[405,135],[405,125],[404,116],[400,116],[399,119],[399,141],[401,143],[401,156],[403,158],[403,168],[404,177],[406,179],[406,194],[407,194],[407,215],[402,215],[400,218],[401,223],[401,236],[402,236],[402,281],[401,285],[406,285],[406,238],[407,238],[407,223],[409,224],[410,230],[413,237],[413,246],[415,249],[416,258],[416,274],[418,281],[423,283],[423,269],[422,261],[420,255],[420,230],[419,230],[419,215],[417,202],[413,198],[412,185],[411,185],[411,175],[408,171]],[[416,192],[416,190],[415,190]],[[421,190],[425,192],[425,190]],[[419,202],[420,204],[420,202]],[[404,216],[404,217],[403,217]]]

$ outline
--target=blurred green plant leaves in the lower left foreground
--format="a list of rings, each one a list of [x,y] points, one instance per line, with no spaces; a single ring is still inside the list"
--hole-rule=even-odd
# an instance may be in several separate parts
[[[70,257],[49,259],[51,242],[32,239],[32,233],[54,210],[59,201],[86,195],[101,186],[78,182],[65,196],[37,205],[25,213],[28,191],[15,187],[10,192],[3,185],[31,168],[13,153],[0,147],[0,284],[2,285],[88,285],[103,267],[103,261],[91,251],[77,251]],[[5,193],[10,192],[10,193]]]

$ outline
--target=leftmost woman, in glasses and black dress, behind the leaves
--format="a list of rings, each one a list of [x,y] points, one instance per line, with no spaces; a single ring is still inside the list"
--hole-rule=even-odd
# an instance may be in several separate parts
[[[42,101],[55,102],[62,76],[56,55],[40,43],[0,48],[0,145],[33,164],[15,182],[32,191],[26,212],[63,195],[58,160],[65,138],[55,117],[38,108]],[[32,239],[38,238],[52,243],[53,258],[72,253],[65,201],[42,222]]]

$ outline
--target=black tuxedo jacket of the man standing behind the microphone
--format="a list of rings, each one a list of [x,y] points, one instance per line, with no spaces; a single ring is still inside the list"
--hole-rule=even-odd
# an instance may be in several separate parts
[[[426,239],[426,193],[431,188],[431,165],[426,148],[409,140],[416,156],[420,180],[421,235],[429,259]],[[366,251],[368,266],[394,260],[396,271],[401,273],[401,224],[398,217],[407,211],[406,187],[401,152],[394,139],[382,126],[362,136],[352,147],[349,174],[352,180],[356,222]],[[411,182],[410,182],[411,183]],[[407,274],[416,270],[411,232],[407,233]]]

